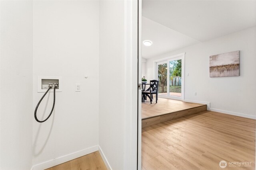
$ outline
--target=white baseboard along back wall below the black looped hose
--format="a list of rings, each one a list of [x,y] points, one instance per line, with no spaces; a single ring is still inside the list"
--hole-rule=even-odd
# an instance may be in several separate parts
[[[74,152],[74,153],[71,153],[71,154],[60,156],[58,158],[48,160],[48,161],[43,162],[41,164],[34,165],[32,167],[32,170],[44,170],[44,169],[50,168],[52,166],[56,166],[56,165],[62,164],[64,162],[73,160],[75,158],[79,158],[79,157],[84,156],[86,154],[96,152],[97,150],[98,150],[98,145],[87,148],[87,149],[84,149],[84,150],[80,150],[80,151],[77,151],[77,152]]]

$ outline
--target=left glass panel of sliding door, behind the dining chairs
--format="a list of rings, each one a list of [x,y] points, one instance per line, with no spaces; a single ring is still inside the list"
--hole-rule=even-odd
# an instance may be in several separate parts
[[[158,94],[167,96],[167,63],[157,64]]]

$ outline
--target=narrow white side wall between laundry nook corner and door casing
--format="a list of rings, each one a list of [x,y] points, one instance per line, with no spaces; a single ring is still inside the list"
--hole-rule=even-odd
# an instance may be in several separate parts
[[[99,146],[113,170],[124,166],[124,1],[100,1]]]

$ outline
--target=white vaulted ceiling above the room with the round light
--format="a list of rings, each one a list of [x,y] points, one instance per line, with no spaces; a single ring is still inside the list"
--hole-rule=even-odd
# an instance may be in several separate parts
[[[142,57],[150,58],[256,26],[256,1],[142,0]]]

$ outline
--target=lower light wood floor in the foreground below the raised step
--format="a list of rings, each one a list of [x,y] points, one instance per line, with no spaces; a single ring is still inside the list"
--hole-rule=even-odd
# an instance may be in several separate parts
[[[255,169],[254,119],[202,111],[142,129],[143,170],[220,170],[219,162],[251,162]]]

